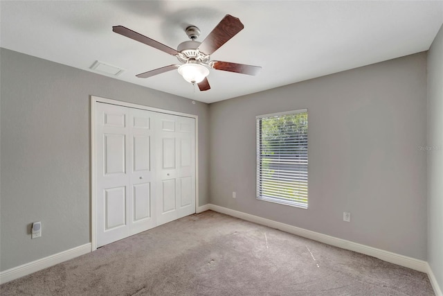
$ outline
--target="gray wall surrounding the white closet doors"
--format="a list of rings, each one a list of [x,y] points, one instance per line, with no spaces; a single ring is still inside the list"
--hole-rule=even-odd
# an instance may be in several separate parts
[[[1,49],[0,270],[89,243],[90,95],[199,116],[208,203],[208,113],[179,96]],[[42,238],[30,223],[42,221]]]

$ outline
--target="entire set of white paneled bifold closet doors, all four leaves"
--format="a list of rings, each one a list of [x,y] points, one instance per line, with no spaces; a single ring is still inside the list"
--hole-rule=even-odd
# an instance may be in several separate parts
[[[96,103],[97,247],[195,213],[195,119]]]

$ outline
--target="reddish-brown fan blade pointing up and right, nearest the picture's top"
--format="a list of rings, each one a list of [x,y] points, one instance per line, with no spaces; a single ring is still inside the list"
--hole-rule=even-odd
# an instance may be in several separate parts
[[[233,17],[232,15],[226,15],[211,33],[206,37],[199,46],[199,51],[206,55],[213,54],[214,51],[220,48],[223,44],[228,42],[230,38],[234,37],[242,31],[244,28],[242,22]]]

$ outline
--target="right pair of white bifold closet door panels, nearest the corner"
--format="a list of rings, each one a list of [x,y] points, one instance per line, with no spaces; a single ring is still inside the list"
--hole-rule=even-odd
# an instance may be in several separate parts
[[[157,225],[195,213],[195,119],[157,114]]]

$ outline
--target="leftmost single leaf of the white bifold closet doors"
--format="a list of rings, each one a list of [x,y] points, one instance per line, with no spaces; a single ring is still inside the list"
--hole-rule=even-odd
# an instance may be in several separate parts
[[[129,234],[129,111],[103,103],[96,107],[95,195],[100,247]]]

